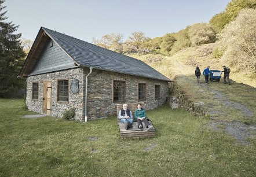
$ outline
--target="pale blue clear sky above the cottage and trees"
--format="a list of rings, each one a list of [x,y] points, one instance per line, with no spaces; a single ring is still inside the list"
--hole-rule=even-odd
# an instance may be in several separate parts
[[[209,23],[231,0],[5,0],[5,22],[19,25],[21,38],[34,40],[41,27],[87,42],[132,32],[149,38]]]

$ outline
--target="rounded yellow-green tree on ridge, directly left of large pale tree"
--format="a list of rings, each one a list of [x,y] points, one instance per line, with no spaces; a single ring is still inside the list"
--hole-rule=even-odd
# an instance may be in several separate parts
[[[216,34],[213,28],[207,23],[196,23],[189,28],[189,38],[192,46],[213,43],[216,40]]]

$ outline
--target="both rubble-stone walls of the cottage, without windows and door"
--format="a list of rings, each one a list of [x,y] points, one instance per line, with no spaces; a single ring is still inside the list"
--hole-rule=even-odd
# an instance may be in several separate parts
[[[75,119],[85,116],[85,77],[89,68],[75,68],[64,71],[45,73],[29,76],[27,78],[27,105],[29,110],[43,113],[43,82],[52,82],[52,116],[61,117],[65,110],[75,108]],[[69,98],[68,103],[57,102],[57,82],[60,79],[68,79]],[[71,92],[71,80],[77,79],[79,84],[78,93]],[[114,80],[122,80],[126,86],[126,100],[124,102],[113,101]],[[32,99],[32,83],[39,83],[38,100]],[[146,84],[146,99],[138,100],[138,83]],[[155,99],[155,84],[160,85],[160,99]],[[93,69],[88,76],[87,117],[89,120],[116,115],[116,104],[144,102],[147,110],[156,108],[164,102],[169,95],[169,82],[142,78],[122,73],[101,71]],[[134,111],[134,110],[133,110]]]

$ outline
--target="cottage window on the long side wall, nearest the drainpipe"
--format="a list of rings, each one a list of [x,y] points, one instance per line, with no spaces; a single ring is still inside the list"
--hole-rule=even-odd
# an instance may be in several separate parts
[[[115,81],[113,84],[114,101],[125,101],[125,82]]]

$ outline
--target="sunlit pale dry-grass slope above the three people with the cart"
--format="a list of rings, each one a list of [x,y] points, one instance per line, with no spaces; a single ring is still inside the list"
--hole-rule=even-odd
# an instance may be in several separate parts
[[[194,75],[196,66],[199,66],[201,71],[210,65],[210,69],[222,70],[222,66],[226,65],[220,58],[214,58],[213,50],[218,46],[218,43],[210,43],[195,47],[188,47],[180,50],[171,57],[166,57],[161,54],[145,54],[142,56],[133,55],[146,62],[151,67],[163,73],[170,79],[174,79],[179,74]],[[246,68],[241,69],[231,68],[230,78],[233,82],[248,84],[256,87],[256,74],[247,71]]]

